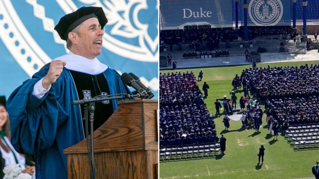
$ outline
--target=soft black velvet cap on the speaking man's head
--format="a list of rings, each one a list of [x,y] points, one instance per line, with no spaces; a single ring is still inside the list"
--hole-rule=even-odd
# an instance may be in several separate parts
[[[63,16],[54,29],[57,30],[62,40],[66,40],[69,32],[90,18],[97,18],[101,28],[108,23],[102,7],[81,7],[75,12]]]

